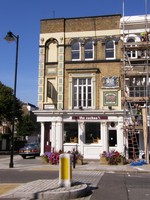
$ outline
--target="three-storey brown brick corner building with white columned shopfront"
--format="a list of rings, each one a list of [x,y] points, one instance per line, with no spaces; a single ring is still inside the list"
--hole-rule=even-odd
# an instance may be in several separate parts
[[[40,22],[38,107],[46,146],[98,159],[124,152],[120,15]]]

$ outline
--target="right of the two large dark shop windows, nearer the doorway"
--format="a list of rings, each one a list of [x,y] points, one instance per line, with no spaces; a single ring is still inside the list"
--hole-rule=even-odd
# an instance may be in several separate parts
[[[98,143],[101,138],[100,123],[89,122],[85,124],[85,143]]]

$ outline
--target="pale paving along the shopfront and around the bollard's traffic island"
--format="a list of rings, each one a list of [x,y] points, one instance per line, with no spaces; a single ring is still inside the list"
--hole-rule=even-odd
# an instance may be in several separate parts
[[[14,157],[15,160],[19,156]],[[40,158],[37,158],[40,159]],[[0,169],[10,169],[8,160],[0,159]],[[14,168],[11,168],[13,170]],[[15,164],[15,169],[21,170],[59,170],[58,165],[40,164],[28,165]],[[97,160],[84,161],[83,165],[72,168],[71,187],[60,187],[59,178],[54,180],[36,180],[25,184],[0,184],[0,200],[90,200],[92,192],[97,188],[103,174],[107,173],[150,173],[150,165],[102,165]]]

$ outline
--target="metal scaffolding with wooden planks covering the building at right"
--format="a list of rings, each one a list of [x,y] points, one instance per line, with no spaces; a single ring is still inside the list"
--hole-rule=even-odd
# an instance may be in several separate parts
[[[145,10],[147,10],[146,0]],[[136,31],[135,35],[138,40],[134,41],[127,33],[123,1],[122,105],[124,107],[126,157],[133,160],[139,158],[141,138],[139,136],[142,134],[145,159],[149,163],[149,123],[147,119],[149,119],[150,33],[148,32],[147,12],[145,12],[143,25],[145,30],[141,33]],[[125,38],[128,39],[125,40]]]

